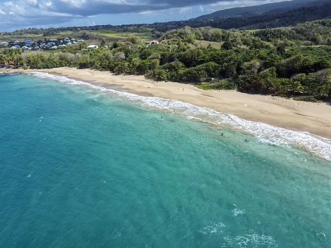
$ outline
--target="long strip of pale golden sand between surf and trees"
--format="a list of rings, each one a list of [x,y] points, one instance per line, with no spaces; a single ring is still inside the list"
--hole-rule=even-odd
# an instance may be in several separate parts
[[[2,69],[2,72],[17,71],[22,70]],[[115,75],[106,71],[89,69],[61,67],[24,71],[47,72],[98,85],[110,84],[110,86],[117,86],[120,90],[141,96],[155,96],[192,103],[246,120],[263,122],[293,131],[307,131],[331,139],[331,105],[327,103],[308,103],[237,91],[207,91],[189,84],[153,82],[146,80],[144,76]]]

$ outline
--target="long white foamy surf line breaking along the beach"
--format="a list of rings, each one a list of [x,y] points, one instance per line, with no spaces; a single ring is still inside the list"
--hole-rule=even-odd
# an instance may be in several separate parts
[[[184,103],[177,100],[164,99],[160,97],[144,97],[128,92],[106,89],[102,86],[70,79],[65,76],[52,75],[45,72],[32,72],[31,75],[38,78],[56,80],[64,84],[86,86],[102,93],[113,93],[121,98],[131,101],[138,101],[141,105],[146,107],[155,107],[166,110],[175,109],[177,112],[186,116],[208,120],[208,122],[212,122],[217,125],[230,125],[235,129],[239,129],[245,133],[257,137],[263,143],[304,148],[328,161],[331,161],[331,140],[310,134],[308,132],[292,131],[261,122],[248,121],[232,114],[217,112],[211,108],[199,107],[191,103]]]

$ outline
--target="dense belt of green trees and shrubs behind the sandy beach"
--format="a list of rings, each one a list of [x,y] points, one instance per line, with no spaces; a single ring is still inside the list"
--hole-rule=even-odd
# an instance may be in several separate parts
[[[0,49],[0,61],[32,69],[71,66],[142,74],[203,89],[306,101],[331,96],[330,20],[254,31],[187,26],[162,33],[159,41],[148,45],[128,33],[96,50],[87,50],[84,42],[52,52]]]

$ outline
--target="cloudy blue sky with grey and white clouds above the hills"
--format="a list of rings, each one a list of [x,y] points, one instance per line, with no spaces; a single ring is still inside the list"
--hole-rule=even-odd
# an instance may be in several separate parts
[[[0,32],[22,28],[180,21],[284,0],[0,0]]]

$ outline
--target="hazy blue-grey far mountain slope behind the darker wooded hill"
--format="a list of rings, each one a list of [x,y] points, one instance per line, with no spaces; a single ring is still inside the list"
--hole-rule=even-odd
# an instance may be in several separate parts
[[[315,1],[316,0],[292,0],[292,1],[284,1],[278,3],[256,5],[256,6],[237,7],[237,8],[231,8],[225,10],[218,10],[211,14],[194,18],[194,20],[223,18],[223,17],[232,17],[232,16],[253,16],[274,10],[283,12],[283,11],[289,11],[291,9],[305,7]]]

